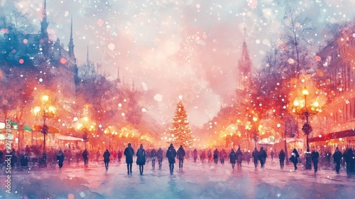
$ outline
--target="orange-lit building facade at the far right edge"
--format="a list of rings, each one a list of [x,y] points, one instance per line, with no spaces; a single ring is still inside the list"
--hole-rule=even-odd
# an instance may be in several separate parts
[[[322,80],[330,85],[332,99],[324,117],[322,135],[310,139],[324,146],[355,146],[355,22],[342,31],[320,50],[318,70]]]

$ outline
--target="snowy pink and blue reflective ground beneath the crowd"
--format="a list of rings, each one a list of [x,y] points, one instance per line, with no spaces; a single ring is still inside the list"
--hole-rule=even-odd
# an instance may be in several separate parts
[[[185,160],[184,168],[170,175],[168,162],[163,168],[145,166],[143,176],[133,164],[133,174],[127,175],[125,163],[89,162],[89,167],[63,166],[13,171],[11,193],[5,192],[5,172],[1,173],[0,198],[354,198],[355,177],[342,169],[320,170],[317,176],[299,165],[280,170],[278,160],[268,158],[266,168],[253,168],[244,163],[241,169],[231,169],[230,163],[193,163]]]

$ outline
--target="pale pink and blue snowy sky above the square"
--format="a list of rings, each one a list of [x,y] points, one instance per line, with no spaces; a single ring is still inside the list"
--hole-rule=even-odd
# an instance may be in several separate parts
[[[42,1],[0,2],[30,14],[39,26]],[[89,46],[90,60],[102,63],[111,79],[119,68],[121,80],[146,91],[147,114],[171,122],[182,95],[191,124],[198,126],[234,97],[244,28],[253,66],[263,67],[282,31],[285,2],[312,18],[316,29],[307,38],[315,50],[329,39],[328,23],[354,21],[351,0],[48,0],[48,32],[67,46],[72,14],[78,65]]]

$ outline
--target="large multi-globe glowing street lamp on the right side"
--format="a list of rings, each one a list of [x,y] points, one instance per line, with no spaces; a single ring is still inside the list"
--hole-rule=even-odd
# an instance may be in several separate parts
[[[295,99],[293,101],[293,108],[292,112],[299,115],[305,115],[306,123],[302,126],[302,131],[306,134],[306,141],[307,141],[307,151],[306,151],[306,169],[312,169],[311,165],[311,157],[310,157],[310,145],[308,144],[308,135],[312,132],[312,126],[308,123],[308,117],[311,114],[317,114],[321,111],[320,103],[315,100],[312,104],[307,104],[307,96],[310,95],[310,92],[306,88],[302,90],[302,95],[305,98],[302,99]]]

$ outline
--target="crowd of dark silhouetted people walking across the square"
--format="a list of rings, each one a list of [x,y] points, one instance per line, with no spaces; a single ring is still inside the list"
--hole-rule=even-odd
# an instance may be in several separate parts
[[[5,154],[5,150],[0,151],[0,166],[4,165]],[[93,154],[93,156],[90,156],[90,154]],[[163,149],[159,148],[157,151],[155,151],[155,149],[146,150],[143,148],[142,144],[139,146],[135,153],[135,150],[133,149],[131,144],[128,144],[126,149],[124,149],[123,153],[121,150],[109,151],[109,149],[106,149],[102,155],[102,159],[104,161],[105,168],[108,171],[109,162],[111,161],[111,159],[114,161],[121,162],[122,156],[125,156],[127,164],[127,173],[131,174],[133,156],[136,155],[136,164],[139,166],[139,173],[143,175],[144,165],[146,165],[146,163],[151,162],[152,168],[154,169],[155,160],[158,160],[158,167],[159,169],[161,169],[163,158],[168,159],[169,170],[170,173],[173,174],[175,159],[179,161],[179,169],[182,169],[184,159],[190,157],[193,158],[193,161],[195,163],[197,162],[197,159],[199,159],[202,163],[204,163],[205,161],[207,161],[208,163],[212,163],[213,160],[214,164],[218,164],[219,162],[221,164],[224,164],[225,160],[229,159],[229,163],[231,163],[232,169],[235,168],[235,164],[238,168],[241,168],[242,161],[245,161],[247,164],[249,164],[252,159],[255,168],[258,167],[258,163],[260,163],[261,168],[263,168],[265,166],[268,154],[271,156],[272,161],[273,158],[278,158],[278,160],[280,161],[280,168],[284,168],[285,160],[288,157],[287,154],[285,154],[285,151],[281,149],[279,152],[277,152],[274,149],[273,151],[268,153],[267,150],[263,148],[263,146],[261,146],[259,150],[255,148],[252,152],[242,151],[239,147],[236,151],[234,151],[234,149],[231,149],[231,151],[229,151],[229,153],[227,154],[225,149],[214,149],[213,152],[211,149],[200,149],[199,151],[197,151],[197,149],[187,149],[187,151],[185,151],[185,149],[180,146],[178,150],[175,150],[173,144],[170,144],[168,150],[166,151],[166,154],[164,155]],[[16,151],[15,149],[13,149],[10,155],[11,167],[28,167],[31,166],[31,164],[33,163],[37,163],[38,167],[46,167],[48,166],[48,164],[55,166],[56,164],[58,164],[59,168],[62,168],[65,164],[65,161],[67,162],[67,165],[70,165],[70,163],[74,163],[75,160],[77,163],[80,163],[82,160],[84,162],[84,166],[88,166],[90,157],[92,158],[90,161],[99,161],[101,159],[99,150],[95,153],[94,151],[88,151],[87,149],[84,149],[84,151],[82,151],[80,149],[75,149],[74,147],[72,147],[72,149],[67,148],[63,151],[62,149],[59,149],[59,151],[51,149],[50,151],[48,151],[48,153],[40,154],[40,147],[26,146],[26,149],[22,151]],[[33,156],[35,157],[34,159]],[[312,152],[310,152],[310,159],[313,163],[315,173],[317,173],[318,171],[318,163],[322,156],[323,155],[320,155],[320,153],[315,149],[312,149]],[[337,173],[339,173],[340,168],[342,166],[346,168],[347,174],[350,175],[352,173],[355,173],[355,154],[351,148],[348,148],[342,152],[337,147],[337,149],[334,151],[334,154],[327,153],[324,157],[332,158],[332,165],[334,165],[334,170]],[[293,163],[294,169],[297,170],[297,164],[300,161],[305,161],[304,156],[302,158],[300,157],[300,154],[298,153],[297,149],[293,149],[290,153],[290,158],[288,158],[288,160]]]

